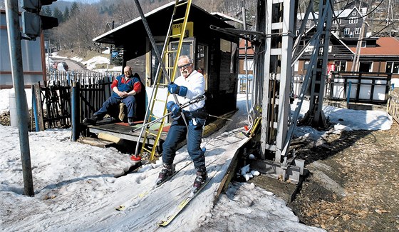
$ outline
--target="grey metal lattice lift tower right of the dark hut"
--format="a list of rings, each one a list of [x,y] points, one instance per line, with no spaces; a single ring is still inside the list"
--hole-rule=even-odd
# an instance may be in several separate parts
[[[315,21],[316,34],[304,46],[304,49],[313,46],[314,53],[294,116],[291,117],[289,95],[292,67],[298,59],[298,57],[293,57],[293,51],[296,51],[299,40],[305,34],[304,25],[301,26],[299,34],[295,34],[295,2],[294,0],[258,0],[257,31],[264,33],[264,38],[261,41],[256,41],[256,44],[260,44],[258,49],[263,47],[264,52],[261,54],[263,57],[259,57],[259,52],[255,57],[258,59],[255,70],[263,80],[261,160],[251,161],[251,166],[269,176],[280,176],[284,181],[289,179],[293,183],[298,183],[299,176],[304,171],[304,161],[296,159],[293,153],[289,153],[289,145],[309,84],[311,84],[311,103],[309,112],[306,114],[308,123],[314,126],[323,124],[325,121],[322,112],[323,86],[325,86],[326,80],[333,1],[320,1],[318,14],[313,12],[313,1],[310,1],[307,8],[303,24],[306,24],[309,14],[318,15],[318,19]],[[296,38],[295,43],[294,38]],[[299,54],[302,54],[303,51],[299,51]],[[253,101],[259,101],[259,99],[253,99]],[[270,157],[270,154],[274,154],[274,158]]]

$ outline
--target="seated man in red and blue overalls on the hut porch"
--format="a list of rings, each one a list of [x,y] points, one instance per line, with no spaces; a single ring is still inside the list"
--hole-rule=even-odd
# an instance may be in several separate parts
[[[130,66],[125,66],[123,75],[117,76],[111,84],[113,94],[91,118],[85,118],[83,123],[95,124],[97,121],[103,119],[110,107],[123,102],[128,109],[128,123],[130,126],[133,126],[137,108],[135,95],[140,93],[141,87],[140,79],[136,76],[132,76],[132,68]]]

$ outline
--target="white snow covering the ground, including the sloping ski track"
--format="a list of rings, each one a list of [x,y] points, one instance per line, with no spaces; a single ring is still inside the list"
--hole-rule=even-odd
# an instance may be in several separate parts
[[[26,90],[27,99],[31,99]],[[0,113],[9,110],[9,90],[0,90]],[[189,193],[195,170],[186,146],[177,151],[177,175],[155,188],[160,161],[135,173],[128,154],[71,141],[70,129],[29,132],[33,197],[24,196],[18,128],[0,125],[0,228],[4,231],[323,231],[299,223],[286,202],[253,183],[230,183],[213,206],[229,161],[247,137],[246,95],[237,96],[233,121],[202,139],[211,180],[169,226],[156,223]],[[28,103],[28,107],[31,104]],[[294,109],[294,105],[291,109]],[[309,109],[305,101],[301,115]],[[336,125],[330,131],[297,127],[294,136],[315,141],[343,130],[387,130],[392,118],[383,111],[323,108]],[[254,171],[250,169],[250,171]],[[125,206],[124,211],[117,211]]]

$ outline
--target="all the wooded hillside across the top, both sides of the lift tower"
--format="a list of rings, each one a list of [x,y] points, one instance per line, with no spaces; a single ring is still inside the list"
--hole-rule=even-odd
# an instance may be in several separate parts
[[[20,3],[23,0],[19,0]],[[140,0],[144,13],[157,9],[172,0]],[[245,4],[247,25],[255,25],[257,15],[257,2],[259,0],[192,0],[193,4],[205,11],[220,12],[236,19],[242,20],[242,5]],[[399,0],[347,0],[334,1],[334,10],[345,9],[346,6],[356,2],[356,7],[366,7],[365,18],[375,36],[390,36],[398,34]],[[91,3],[90,3],[91,2]],[[309,6],[309,0],[297,2],[298,13],[303,13]],[[20,4],[21,6],[21,4]],[[317,2],[314,7],[318,8]],[[0,0],[0,10],[5,9],[4,0]],[[23,11],[21,9],[21,11]],[[315,9],[317,12],[318,10]],[[132,0],[99,0],[99,1],[55,1],[53,4],[43,6],[41,14],[56,17],[59,26],[44,31],[45,39],[58,50],[68,49],[86,56],[88,51],[100,48],[93,43],[93,38],[104,34],[106,31],[125,24],[140,16]],[[249,26],[249,30],[252,28]],[[377,31],[374,33],[374,30]]]

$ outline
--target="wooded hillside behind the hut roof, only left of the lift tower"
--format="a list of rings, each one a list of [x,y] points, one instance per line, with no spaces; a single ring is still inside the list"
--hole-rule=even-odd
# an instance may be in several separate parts
[[[56,1],[57,4],[61,2]],[[147,13],[169,2],[140,1],[140,6]],[[192,3],[209,12],[223,12],[237,19],[241,17],[242,0],[194,0]],[[256,3],[257,0],[246,1],[248,19],[254,20]],[[100,0],[94,4],[74,1],[70,6],[63,6],[65,8],[62,11],[56,4],[43,6],[42,14],[57,17],[60,22],[58,27],[45,31],[45,37],[57,49],[73,49],[80,56],[86,56],[87,51],[100,49],[92,41],[96,36],[140,17],[135,2],[131,0]]]

